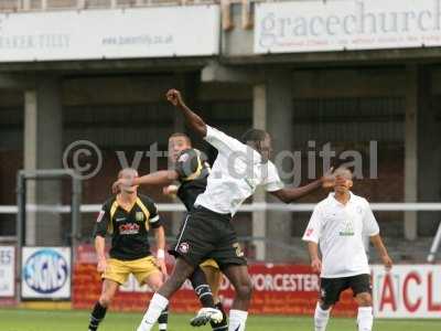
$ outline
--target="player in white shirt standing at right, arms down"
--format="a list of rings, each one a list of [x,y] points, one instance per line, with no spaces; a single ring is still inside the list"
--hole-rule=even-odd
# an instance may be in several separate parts
[[[370,331],[374,316],[364,236],[369,236],[387,269],[391,268],[392,261],[369,203],[349,191],[353,185],[351,170],[338,168],[334,175],[334,192],[315,206],[303,235],[311,266],[321,277],[321,296],[314,313],[315,331],[326,330],[331,309],[347,288],[353,290],[358,305],[358,330]]]

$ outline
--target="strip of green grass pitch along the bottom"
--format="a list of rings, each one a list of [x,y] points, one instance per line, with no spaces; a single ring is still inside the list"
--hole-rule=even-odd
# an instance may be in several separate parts
[[[19,309],[0,310],[1,331],[87,331],[87,311],[36,311]],[[191,316],[171,314],[170,331],[208,331],[204,327],[189,325]],[[141,319],[140,313],[109,312],[99,331],[133,331]],[[157,328],[154,330],[158,330]],[[327,331],[356,331],[354,319],[333,318]],[[435,320],[377,320],[375,331],[440,331],[441,321]],[[247,331],[313,331],[308,317],[250,316]]]

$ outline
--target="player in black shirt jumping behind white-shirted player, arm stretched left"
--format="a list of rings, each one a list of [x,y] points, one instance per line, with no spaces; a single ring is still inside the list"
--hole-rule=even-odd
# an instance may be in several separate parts
[[[192,147],[190,137],[181,132],[175,132],[169,138],[169,158],[173,164],[172,169],[152,172],[132,181],[119,179],[112,185],[114,192],[127,185],[163,186],[165,195],[178,195],[190,212],[196,197],[206,189],[209,164],[204,153]],[[173,184],[176,181],[180,183],[179,186]],[[174,249],[171,249],[170,254],[176,256]],[[218,297],[222,274],[216,261],[213,259],[203,261],[190,276],[190,280],[203,307],[198,313],[200,318],[192,320],[192,324],[198,327],[211,322],[214,330],[226,331],[228,323]],[[212,321],[215,313],[213,309],[218,309],[222,313],[222,321],[218,323]]]

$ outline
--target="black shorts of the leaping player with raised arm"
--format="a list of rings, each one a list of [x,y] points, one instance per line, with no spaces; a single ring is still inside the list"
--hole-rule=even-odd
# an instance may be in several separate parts
[[[232,225],[232,216],[203,206],[193,207],[186,215],[178,239],[169,252],[194,267],[208,258],[213,258],[220,269],[229,265],[247,265]]]

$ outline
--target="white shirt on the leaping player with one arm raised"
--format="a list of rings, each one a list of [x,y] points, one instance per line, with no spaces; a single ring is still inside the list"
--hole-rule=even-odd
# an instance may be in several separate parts
[[[260,154],[249,146],[209,126],[204,139],[218,154],[205,192],[197,196],[195,205],[234,215],[258,185],[265,185],[268,192],[283,188],[276,166],[271,161],[262,163]]]

